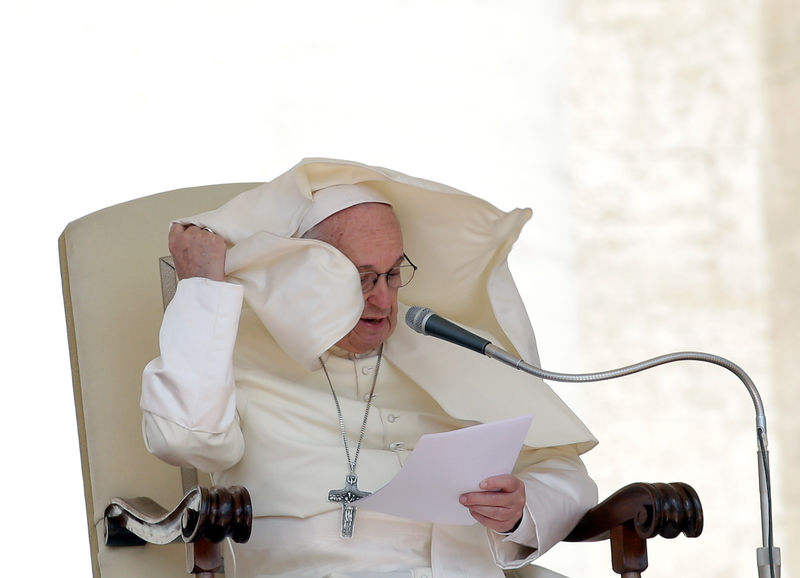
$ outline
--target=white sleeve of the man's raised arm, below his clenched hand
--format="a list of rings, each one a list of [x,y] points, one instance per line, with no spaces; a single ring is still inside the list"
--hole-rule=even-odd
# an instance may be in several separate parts
[[[164,312],[161,356],[144,369],[140,405],[145,443],[169,463],[219,471],[241,458],[233,347],[242,294],[232,283],[184,279]]]

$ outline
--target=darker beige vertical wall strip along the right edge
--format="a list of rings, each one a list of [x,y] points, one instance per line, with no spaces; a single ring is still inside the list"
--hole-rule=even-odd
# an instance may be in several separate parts
[[[800,564],[800,8],[793,0],[764,0],[764,224],[770,279],[769,322],[774,380],[773,432],[781,492],[776,518],[786,563]],[[785,574],[786,575],[786,574]]]

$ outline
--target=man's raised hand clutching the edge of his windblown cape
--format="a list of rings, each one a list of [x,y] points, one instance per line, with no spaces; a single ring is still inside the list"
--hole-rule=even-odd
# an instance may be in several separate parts
[[[225,240],[195,225],[175,223],[169,230],[169,252],[178,279],[225,279]]]

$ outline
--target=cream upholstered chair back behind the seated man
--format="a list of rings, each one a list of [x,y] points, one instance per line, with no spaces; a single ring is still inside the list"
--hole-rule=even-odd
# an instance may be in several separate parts
[[[170,220],[218,207],[256,184],[144,197],[73,221],[59,238],[95,578],[187,575],[182,543],[106,546],[103,512],[116,496],[172,507],[184,494],[180,470],[150,455],[141,433],[141,374],[158,355],[164,307],[159,258],[169,253]]]

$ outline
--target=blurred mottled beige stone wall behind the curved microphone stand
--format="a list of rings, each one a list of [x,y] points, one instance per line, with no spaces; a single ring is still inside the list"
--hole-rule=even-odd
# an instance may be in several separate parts
[[[784,578],[797,575],[798,10],[788,0],[564,7],[578,353],[555,369],[678,350],[741,365],[766,404],[776,545]],[[556,389],[601,440],[586,457],[601,494],[634,480],[700,493],[703,536],[654,543],[647,576],[756,574],[754,410],[732,374],[690,362]],[[606,546],[589,550],[561,545],[543,562],[609,575]]]

